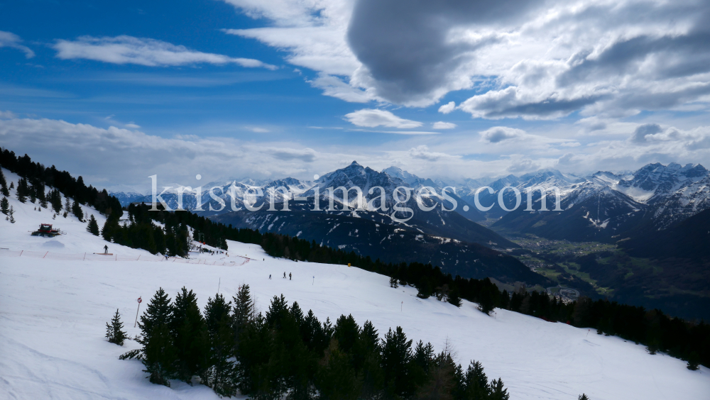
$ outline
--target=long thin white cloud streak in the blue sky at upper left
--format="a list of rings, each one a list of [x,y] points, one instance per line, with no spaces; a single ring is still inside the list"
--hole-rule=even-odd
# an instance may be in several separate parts
[[[236,64],[242,67],[263,67],[275,70],[273,65],[251,58],[234,58],[221,54],[190,50],[182,45],[149,38],[116,36],[115,38],[81,36],[77,40],[57,40],[53,45],[62,60],[85,59],[112,64],[137,64],[148,67],[168,67],[192,64]]]

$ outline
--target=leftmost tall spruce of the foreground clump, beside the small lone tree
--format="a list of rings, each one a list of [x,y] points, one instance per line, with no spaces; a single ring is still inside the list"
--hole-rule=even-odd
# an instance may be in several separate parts
[[[141,338],[138,343],[141,349],[141,361],[150,374],[152,383],[170,387],[168,379],[173,378],[175,364],[175,346],[170,335],[170,321],[173,319],[173,307],[170,298],[161,287],[155,292],[148,304],[146,312],[141,316],[138,326],[141,328]]]

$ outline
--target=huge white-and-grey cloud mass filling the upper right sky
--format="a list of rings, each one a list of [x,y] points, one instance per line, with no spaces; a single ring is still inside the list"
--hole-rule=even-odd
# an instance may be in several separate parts
[[[475,118],[552,119],[710,99],[706,1],[225,1],[270,25],[230,33],[338,79],[322,88],[346,101],[429,106],[475,89],[458,107]]]

